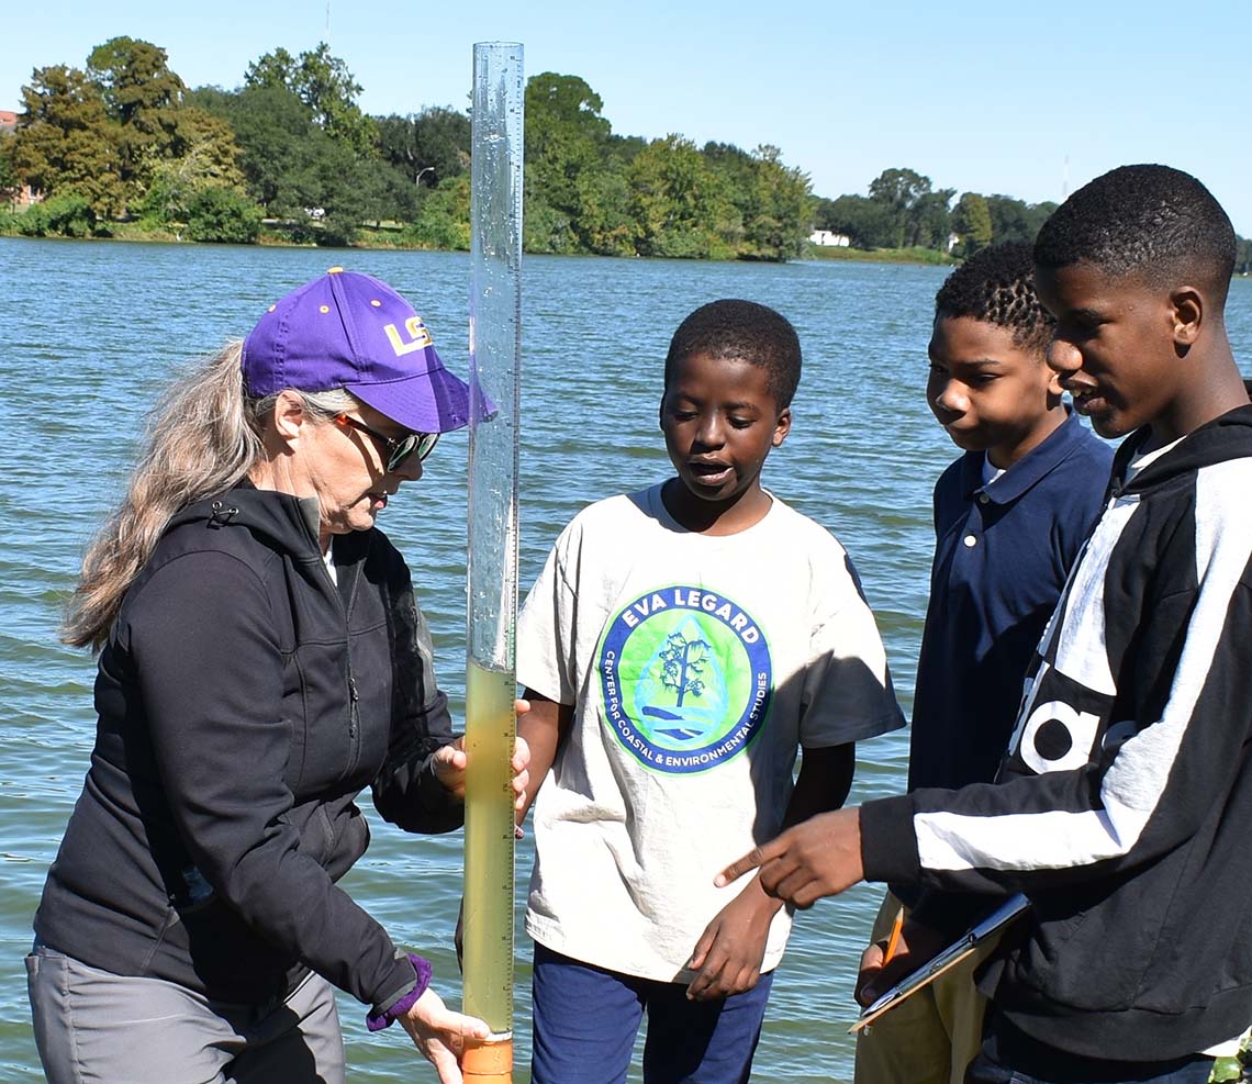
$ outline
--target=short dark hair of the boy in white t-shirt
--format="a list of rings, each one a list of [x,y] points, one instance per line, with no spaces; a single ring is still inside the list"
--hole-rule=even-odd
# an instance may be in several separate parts
[[[791,406],[800,384],[800,337],[786,317],[756,302],[710,302],[679,324],[665,355],[666,388],[674,367],[695,354],[765,369],[766,387],[780,411]]]

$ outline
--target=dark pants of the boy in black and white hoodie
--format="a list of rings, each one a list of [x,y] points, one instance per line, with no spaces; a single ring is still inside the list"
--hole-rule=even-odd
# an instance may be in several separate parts
[[[965,1084],[1207,1084],[1213,1059],[1192,1054],[1171,1061],[1083,1058],[1048,1046],[1003,1016],[990,1020]]]

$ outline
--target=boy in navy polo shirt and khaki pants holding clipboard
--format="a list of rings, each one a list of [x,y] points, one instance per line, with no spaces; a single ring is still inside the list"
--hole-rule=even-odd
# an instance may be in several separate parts
[[[965,454],[935,486],[910,790],[994,779],[1030,655],[1108,483],[1112,449],[1062,406],[1047,364],[1054,322],[1035,297],[1033,269],[1029,244],[987,248],[935,298],[926,401]],[[900,895],[918,902],[914,892]],[[901,906],[888,892],[875,943]],[[963,897],[928,901],[931,914],[936,906],[960,925]],[[866,964],[881,951],[871,945]],[[982,1033],[977,964],[967,961],[861,1033],[856,1084],[960,1084]]]

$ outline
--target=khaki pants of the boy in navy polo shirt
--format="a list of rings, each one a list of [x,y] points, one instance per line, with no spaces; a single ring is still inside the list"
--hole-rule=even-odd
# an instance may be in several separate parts
[[[900,901],[888,892],[871,940],[886,939],[899,909]],[[987,1009],[974,986],[974,969],[993,948],[983,944],[864,1029],[856,1036],[855,1084],[962,1084],[978,1054]]]

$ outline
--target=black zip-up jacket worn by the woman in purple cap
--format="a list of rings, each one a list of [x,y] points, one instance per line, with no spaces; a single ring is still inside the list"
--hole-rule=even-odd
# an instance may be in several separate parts
[[[414,971],[336,886],[369,832],[458,827],[451,740],[408,568],[377,529],[243,484],[170,522],[100,656],[95,749],[35,916],[41,941],[210,998],[282,998],[312,969],[376,1011]]]

